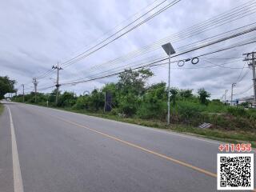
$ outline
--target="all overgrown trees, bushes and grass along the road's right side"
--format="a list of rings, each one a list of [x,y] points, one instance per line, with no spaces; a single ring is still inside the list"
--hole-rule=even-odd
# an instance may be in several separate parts
[[[98,114],[126,122],[147,122],[146,126],[166,128],[167,89],[165,82],[148,86],[147,80],[154,74],[150,70],[126,70],[118,76],[118,82],[107,83],[102,89],[94,89],[90,94],[79,95],[72,92],[37,94],[37,103],[42,106],[58,107],[85,114]],[[113,109],[104,114],[105,93],[112,94]],[[256,110],[244,106],[229,106],[219,100],[210,101],[210,93],[199,89],[170,89],[170,122],[172,130],[191,132],[208,137],[256,141]],[[22,95],[13,98],[22,102]],[[34,92],[25,95],[26,103],[34,103]],[[210,129],[198,128],[203,122],[212,124]],[[149,125],[150,124],[150,125]],[[160,125],[160,126],[159,126]],[[227,132],[230,134],[227,134]],[[230,136],[232,135],[232,136]],[[246,135],[246,137],[242,137]],[[233,138],[232,138],[233,137]]]

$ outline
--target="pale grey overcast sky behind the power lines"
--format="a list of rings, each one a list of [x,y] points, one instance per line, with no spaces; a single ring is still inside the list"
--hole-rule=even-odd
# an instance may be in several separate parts
[[[168,1],[171,2],[170,0]],[[20,85],[22,83],[26,84],[26,91],[30,91],[33,89],[33,77],[42,75],[47,70],[50,70],[51,66],[56,65],[57,62],[65,62],[82,53],[86,48],[93,46],[98,38],[103,39],[110,35],[107,32],[118,24],[119,26],[114,30],[125,26],[132,19],[142,15],[143,12],[145,13],[146,10],[154,7],[159,2],[162,2],[162,0],[1,1],[0,75],[8,75],[10,78],[16,79],[19,91],[21,91]],[[134,64],[140,63],[139,61],[154,55],[156,57],[165,56],[165,52],[159,46],[159,48],[157,47],[158,49],[147,54],[118,62],[113,66],[114,68],[111,68],[109,64],[109,61],[114,58],[122,57],[134,50],[140,50],[143,46],[150,45],[162,38],[171,37],[174,33],[203,22],[215,15],[222,14],[245,2],[249,1],[182,0],[149,22],[144,23],[122,38],[118,38],[110,45],[61,70],[60,83],[70,82],[79,78],[87,79],[88,75],[102,73],[117,67],[122,68],[122,66],[130,62],[134,62]],[[255,3],[255,1],[253,2]],[[255,4],[251,7],[250,13],[254,13],[254,8]],[[134,17],[131,17],[132,15]],[[127,20],[127,18],[129,19]],[[197,42],[227,30],[256,22],[255,18],[255,14],[250,14],[230,22],[228,25],[219,26],[214,30],[209,30],[206,33],[194,35],[191,38],[186,38],[181,42],[173,42],[172,44],[174,49],[185,46],[191,42]],[[103,34],[105,36],[102,36]],[[219,43],[218,46],[209,46],[205,49],[185,54],[178,59],[194,57],[229,46],[235,41],[238,42],[252,37],[256,37],[256,33],[252,32],[246,34],[243,38],[238,38],[238,40],[233,39],[230,42]],[[179,89],[193,89],[194,92],[198,88],[204,87],[210,91],[212,98],[220,98],[227,89],[229,90],[228,96],[230,96],[231,84],[237,82],[239,74],[242,77],[247,70],[247,68],[241,69],[244,66],[244,62],[239,57],[242,57],[243,53],[253,50],[256,50],[256,43],[218,54],[207,55],[205,58],[200,58],[195,66],[190,62],[186,62],[185,66],[178,67],[177,63],[173,63],[171,66],[171,86],[176,86]],[[237,59],[228,60],[226,58]],[[174,58],[174,60],[176,59]],[[225,68],[220,66],[201,68],[211,66],[212,64],[209,62],[218,65],[222,65],[225,62],[230,63],[226,64]],[[95,66],[98,67],[95,68]],[[168,69],[166,65],[154,67],[152,70],[154,71],[154,77],[150,78],[149,85],[167,81]],[[54,85],[54,78],[56,78],[56,73],[50,74],[46,78],[38,79],[38,89]],[[235,95],[235,98],[253,94],[253,89],[240,94],[243,90],[250,88],[252,85],[251,79],[252,71],[250,70],[248,75],[235,87],[234,93],[239,93],[239,95]],[[76,86],[61,86],[61,90],[70,90],[77,94],[82,94],[85,90],[90,91],[95,87],[101,88],[105,83],[116,80],[117,78],[114,77],[104,78]],[[44,90],[44,92],[50,92],[52,89]]]

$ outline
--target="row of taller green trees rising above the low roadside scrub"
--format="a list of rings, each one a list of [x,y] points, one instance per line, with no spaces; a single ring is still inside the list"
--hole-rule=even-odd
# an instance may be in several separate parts
[[[126,117],[138,116],[139,118],[165,119],[167,113],[167,88],[166,82],[147,85],[147,80],[154,74],[151,70],[125,70],[118,75],[118,82],[107,83],[102,89],[94,89],[88,95],[77,96],[72,92],[59,92],[58,102],[55,102],[57,90],[50,94],[37,93],[37,103],[41,105],[67,107],[75,110],[88,110],[91,112],[102,111],[105,105],[106,92],[112,94],[112,114],[124,114]],[[170,101],[176,107],[179,101],[194,101],[207,105],[210,93],[199,89],[198,95],[193,90],[170,89]],[[25,95],[25,102],[34,103],[34,92]],[[22,102],[23,96],[14,97],[17,102]]]

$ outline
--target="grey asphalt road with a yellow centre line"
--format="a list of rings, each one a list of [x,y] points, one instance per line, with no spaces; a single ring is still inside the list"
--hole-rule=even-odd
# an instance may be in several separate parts
[[[218,142],[45,107],[5,106],[1,192],[20,184],[18,170],[25,192],[216,191]]]

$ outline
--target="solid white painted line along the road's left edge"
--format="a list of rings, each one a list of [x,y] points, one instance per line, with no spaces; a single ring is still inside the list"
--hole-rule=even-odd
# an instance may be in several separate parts
[[[10,113],[10,108],[7,106],[10,115],[10,133],[11,133],[11,147],[13,154],[13,171],[14,171],[14,192],[24,192],[22,183],[21,167],[18,160],[17,142],[14,131],[14,122]]]

